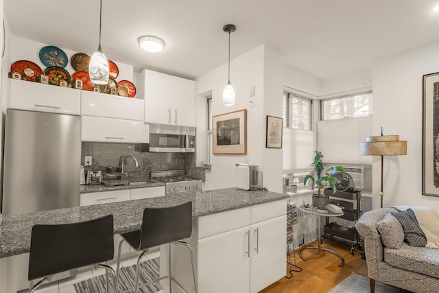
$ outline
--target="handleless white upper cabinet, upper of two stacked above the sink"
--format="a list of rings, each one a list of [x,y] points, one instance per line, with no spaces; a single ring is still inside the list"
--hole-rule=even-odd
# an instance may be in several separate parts
[[[143,121],[143,99],[81,91],[81,115]]]

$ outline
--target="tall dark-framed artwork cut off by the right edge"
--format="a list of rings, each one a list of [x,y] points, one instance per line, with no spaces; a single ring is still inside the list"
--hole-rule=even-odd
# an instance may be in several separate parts
[[[439,73],[423,75],[423,194],[439,196]]]

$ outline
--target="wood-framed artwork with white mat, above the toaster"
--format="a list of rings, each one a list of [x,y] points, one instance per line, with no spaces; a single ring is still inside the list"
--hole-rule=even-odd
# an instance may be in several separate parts
[[[247,154],[247,110],[212,117],[213,154]]]

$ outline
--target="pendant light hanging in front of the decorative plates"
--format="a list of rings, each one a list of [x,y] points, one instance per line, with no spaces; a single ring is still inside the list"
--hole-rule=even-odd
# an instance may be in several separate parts
[[[101,27],[102,27],[102,0],[99,11],[99,46],[91,56],[88,64],[88,74],[93,84],[107,84],[110,77],[110,68],[108,67],[108,60],[101,49]]]

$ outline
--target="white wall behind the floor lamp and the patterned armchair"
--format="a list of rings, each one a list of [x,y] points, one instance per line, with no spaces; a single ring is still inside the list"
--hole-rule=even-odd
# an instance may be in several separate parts
[[[439,197],[422,195],[423,75],[439,71],[439,43],[418,47],[375,62],[373,135],[399,134],[407,156],[384,156],[383,206],[418,204],[439,209]],[[374,156],[373,207],[379,207],[381,159]]]

